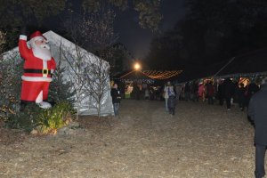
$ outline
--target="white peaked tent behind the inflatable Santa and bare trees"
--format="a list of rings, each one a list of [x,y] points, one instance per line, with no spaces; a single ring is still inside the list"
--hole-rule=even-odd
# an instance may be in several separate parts
[[[61,61],[61,67],[66,69],[64,73],[64,80],[66,82],[77,81],[77,75],[75,74],[77,73],[76,67],[72,65],[73,63],[75,63],[75,60],[77,60],[77,58],[79,58],[79,61],[82,64],[82,68],[79,70],[79,72],[82,72],[82,76],[87,73],[86,76],[90,76],[94,83],[99,83],[99,79],[97,77],[94,77],[93,73],[90,73],[91,71],[93,71],[92,69],[98,68],[98,65],[101,65],[101,72],[109,72],[109,63],[107,61],[103,61],[93,53],[85,51],[85,49],[77,46],[77,44],[73,44],[69,40],[63,38],[62,36],[59,36],[53,31],[48,31],[43,35],[49,40],[53,58],[55,59],[57,64],[59,64],[59,61]],[[4,53],[4,59],[21,60],[19,48],[16,47],[11,51]],[[90,66],[90,68],[88,68],[88,66]],[[114,111],[110,96],[109,77],[106,77],[104,83],[101,84],[106,87],[101,99],[101,116],[113,115]],[[97,115],[97,103],[93,100],[90,92],[88,92],[89,87],[85,85],[85,82],[82,85],[74,82],[73,90],[77,88],[79,88],[80,91],[80,99],[77,100],[77,97],[75,98],[75,105],[77,107],[77,101],[79,101],[79,115]]]

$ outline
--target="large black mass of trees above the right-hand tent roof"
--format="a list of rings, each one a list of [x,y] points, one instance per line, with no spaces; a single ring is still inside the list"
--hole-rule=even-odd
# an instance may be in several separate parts
[[[152,41],[146,59],[152,69],[182,69],[200,77],[222,61],[267,46],[267,2],[186,2],[185,20]]]

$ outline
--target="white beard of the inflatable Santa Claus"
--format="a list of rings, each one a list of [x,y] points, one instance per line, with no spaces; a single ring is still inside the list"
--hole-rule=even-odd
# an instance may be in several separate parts
[[[50,51],[50,46],[48,44],[36,45],[35,43],[31,44],[32,52],[36,58],[40,58],[44,61],[50,61],[52,54]]]

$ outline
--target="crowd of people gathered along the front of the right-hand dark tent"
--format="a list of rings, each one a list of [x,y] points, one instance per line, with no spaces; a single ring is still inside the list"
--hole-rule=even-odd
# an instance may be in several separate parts
[[[250,98],[259,91],[259,84],[256,80],[251,80],[249,84],[233,81],[230,77],[220,79],[216,82],[190,81],[183,85],[176,85],[175,89],[179,100],[182,101],[207,101],[208,104],[214,104],[218,101],[220,105],[226,103],[226,109],[230,110],[233,103],[239,105],[240,110],[247,109]]]

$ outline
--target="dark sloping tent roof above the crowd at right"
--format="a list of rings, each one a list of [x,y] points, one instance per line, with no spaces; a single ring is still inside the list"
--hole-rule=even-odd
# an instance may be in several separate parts
[[[183,70],[178,82],[186,82],[202,77],[247,76],[248,74],[267,72],[267,48],[244,53],[226,61],[206,65],[205,68],[192,66]]]

